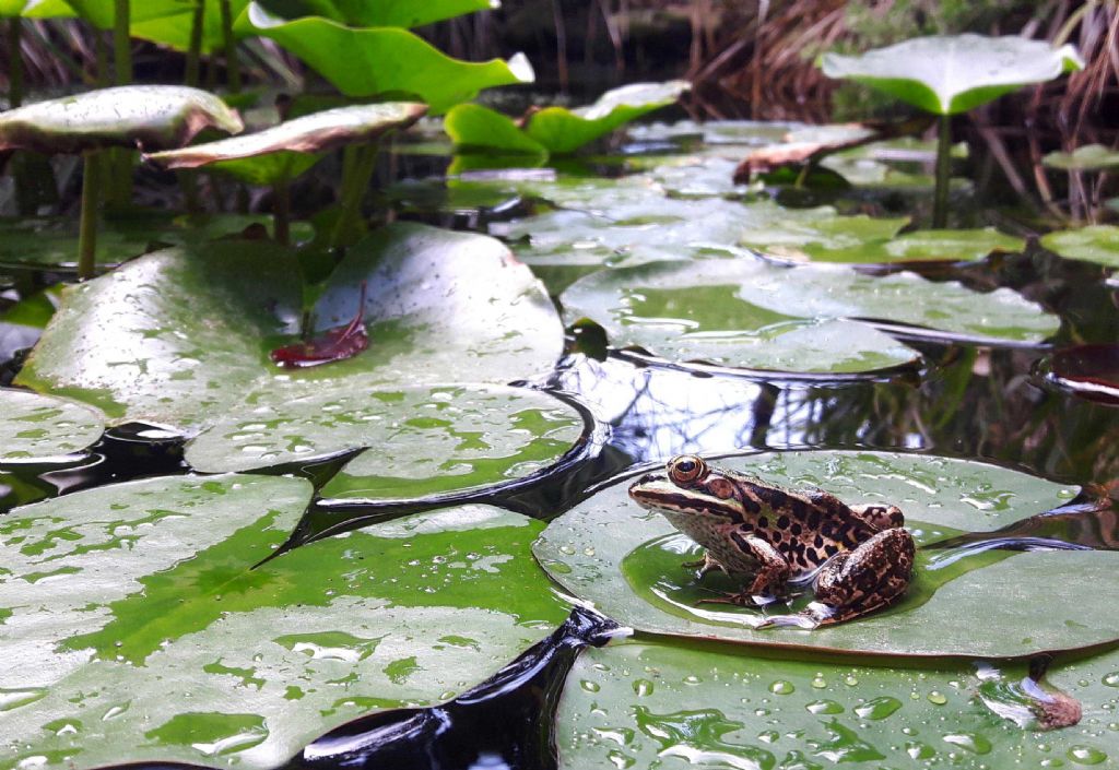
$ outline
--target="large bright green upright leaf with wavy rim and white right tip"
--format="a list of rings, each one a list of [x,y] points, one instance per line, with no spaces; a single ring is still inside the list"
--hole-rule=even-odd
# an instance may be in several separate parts
[[[407,95],[426,102],[433,114],[473,98],[483,88],[532,83],[535,77],[520,54],[508,63],[461,62],[398,27],[355,29],[320,17],[286,20],[256,2],[237,19],[236,28],[242,35],[275,40],[347,96]]]

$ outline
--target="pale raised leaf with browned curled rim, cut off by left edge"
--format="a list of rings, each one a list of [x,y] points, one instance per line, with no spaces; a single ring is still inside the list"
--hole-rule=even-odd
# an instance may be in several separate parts
[[[0,150],[47,154],[138,144],[180,147],[205,128],[244,125],[217,96],[177,85],[125,85],[63,96],[0,114]]]

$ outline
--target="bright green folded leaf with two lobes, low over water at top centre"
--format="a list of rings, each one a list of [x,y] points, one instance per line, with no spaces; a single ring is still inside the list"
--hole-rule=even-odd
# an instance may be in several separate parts
[[[594,104],[575,110],[529,111],[520,125],[476,104],[460,104],[446,115],[446,132],[457,147],[504,152],[553,154],[574,152],[599,137],[653,110],[673,104],[692,87],[687,81],[632,83],[602,94]]]

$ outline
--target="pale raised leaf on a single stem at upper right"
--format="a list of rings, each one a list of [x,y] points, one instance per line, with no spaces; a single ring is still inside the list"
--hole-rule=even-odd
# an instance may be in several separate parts
[[[1071,45],[1017,35],[919,37],[861,56],[825,54],[824,74],[857,81],[937,115],[955,115],[1031,83],[1082,69]]]

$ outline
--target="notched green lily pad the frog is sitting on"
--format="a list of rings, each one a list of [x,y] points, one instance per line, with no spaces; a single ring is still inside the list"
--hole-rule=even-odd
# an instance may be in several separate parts
[[[960,532],[1004,527],[1075,494],[997,466],[920,454],[784,452],[725,458],[718,464],[787,487],[819,487],[850,504],[895,504],[921,546]],[[777,647],[963,657],[1029,656],[1117,638],[1110,597],[1117,588],[1119,555],[1097,551],[920,547],[909,593],[884,612],[810,631],[755,629],[762,610],[696,604],[715,595],[713,590],[733,590],[736,583],[722,575],[696,582],[694,571],[680,565],[699,548],[667,519],[632,503],[628,486],[629,480],[612,485],[555,519],[535,553],[574,595],[641,631]],[[1045,612],[1036,611],[1038,597],[1044,598]]]

